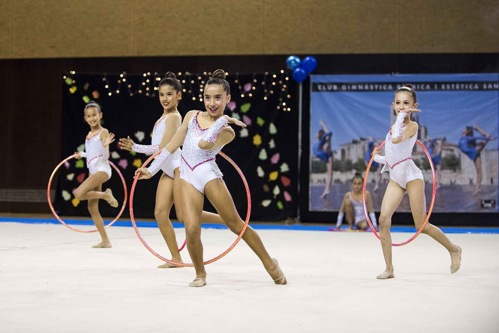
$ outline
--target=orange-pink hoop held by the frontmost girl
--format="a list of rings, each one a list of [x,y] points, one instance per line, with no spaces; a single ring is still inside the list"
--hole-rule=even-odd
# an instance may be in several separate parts
[[[144,162],[144,164],[142,165],[142,167],[145,167],[152,159],[154,159],[157,155],[161,154],[161,152],[163,151],[163,149],[161,149],[159,152],[156,152],[154,153],[153,155],[151,155],[147,160],[146,162]],[[204,264],[207,265],[207,264],[210,264],[214,261],[217,261],[219,260],[220,258],[222,258],[223,256],[225,256],[227,253],[229,253],[235,246],[236,244],[238,244],[238,242],[241,240],[241,238],[243,237],[243,234],[245,233],[246,231],[246,227],[248,226],[248,222],[250,221],[250,212],[251,212],[251,196],[250,196],[250,187],[248,186],[248,182],[246,181],[246,178],[245,178],[245,175],[243,174],[243,171],[241,171],[241,169],[239,168],[239,166],[236,165],[236,163],[234,163],[234,161],[232,161],[227,155],[225,155],[224,153],[222,152],[219,152],[219,154],[224,158],[226,159],[227,161],[229,161],[230,164],[232,164],[232,166],[234,166],[236,168],[236,170],[238,171],[239,175],[241,176],[241,179],[243,179],[243,183],[245,184],[245,188],[246,188],[246,195],[248,197],[248,212],[246,214],[246,220],[245,220],[245,223],[243,225],[243,229],[241,230],[240,234],[238,235],[238,238],[236,238],[236,241],[227,249],[225,250],[222,254],[220,254],[219,256],[213,258],[213,259],[210,259],[208,261],[205,261]],[[176,262],[176,261],[172,261],[172,260],[169,260],[169,259],[166,259],[164,257],[162,257],[161,255],[159,255],[157,252],[155,252],[147,243],[146,241],[142,238],[142,236],[140,235],[140,232],[139,230],[137,229],[137,224],[135,223],[135,217],[133,215],[133,193],[135,191],[135,185],[137,184],[137,179],[138,177],[135,177],[135,179],[133,180],[133,184],[132,184],[132,187],[130,189],[130,219],[132,220],[132,224],[133,224],[133,228],[135,229],[135,233],[137,234],[137,236],[139,237],[140,241],[142,242],[142,244],[144,244],[144,246],[152,253],[154,254],[157,258],[163,260],[163,261],[166,261],[167,263],[170,263],[170,264],[173,264],[173,265],[177,265],[177,266],[182,266],[182,267],[193,267],[194,265],[193,264],[186,264],[186,263],[179,263],[179,262]],[[186,242],[184,242],[184,245],[182,246],[182,248],[184,248]],[[182,249],[181,248],[181,249]],[[179,250],[180,251],[180,250]]]

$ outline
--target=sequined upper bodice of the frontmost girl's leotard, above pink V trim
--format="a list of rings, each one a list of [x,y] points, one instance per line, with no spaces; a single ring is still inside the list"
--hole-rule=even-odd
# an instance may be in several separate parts
[[[187,134],[184,139],[184,146],[182,147],[182,159],[185,161],[187,166],[191,170],[194,170],[196,166],[199,166],[206,162],[215,162],[215,157],[218,152],[222,150],[224,146],[220,146],[214,149],[201,149],[198,146],[199,140],[203,135],[203,132],[208,129],[202,129],[198,122],[198,116],[201,111],[196,112],[196,114],[191,118],[189,124],[187,125]],[[212,163],[213,165],[214,163]],[[216,166],[216,165],[215,165]]]

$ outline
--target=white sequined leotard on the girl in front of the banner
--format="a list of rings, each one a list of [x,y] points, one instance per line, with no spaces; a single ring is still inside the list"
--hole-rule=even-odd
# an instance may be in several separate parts
[[[381,172],[389,171],[390,178],[395,180],[402,188],[406,188],[409,181],[423,179],[423,173],[412,160],[412,149],[418,134],[416,133],[412,138],[398,144],[392,143],[392,138],[402,137],[403,128],[405,127],[402,122],[405,115],[403,112],[399,113],[393,129],[390,129],[386,135],[385,156],[374,156],[374,161],[385,164]]]

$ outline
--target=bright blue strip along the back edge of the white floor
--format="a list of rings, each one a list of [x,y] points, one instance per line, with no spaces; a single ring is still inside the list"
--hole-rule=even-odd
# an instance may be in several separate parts
[[[55,218],[19,218],[19,217],[0,217],[0,222],[19,222],[19,223],[48,223],[60,224]],[[93,225],[92,220],[72,220],[67,219],[64,222],[74,225]],[[109,223],[109,221],[104,221]],[[137,226],[146,228],[156,228],[156,222],[137,221]],[[174,228],[183,228],[184,224],[179,222],[172,222]],[[116,221],[113,226],[131,227],[132,221]],[[203,228],[213,229],[227,229],[225,225],[203,223]],[[312,231],[329,231],[334,228],[333,225],[280,225],[280,224],[252,224],[253,229],[267,229],[267,230],[312,230]],[[441,227],[445,233],[460,233],[460,234],[499,234],[499,228],[474,228],[474,227]],[[415,233],[414,227],[394,226],[390,229],[392,232],[412,232]],[[341,231],[346,231],[346,227]]]

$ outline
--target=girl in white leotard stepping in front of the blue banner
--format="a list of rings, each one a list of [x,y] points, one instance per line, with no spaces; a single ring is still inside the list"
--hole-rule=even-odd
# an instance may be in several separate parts
[[[391,218],[402,201],[405,192],[409,195],[411,211],[416,228],[419,230],[426,219],[425,181],[421,170],[412,160],[412,149],[418,136],[418,124],[411,121],[410,114],[418,110],[416,91],[411,84],[400,87],[395,92],[392,103],[397,120],[386,135],[385,156],[381,151],[373,151],[374,161],[384,164],[383,171],[390,172],[390,181],[381,203],[379,230],[381,247],[386,262],[386,269],[378,279],[394,278],[392,264],[392,237],[390,234]],[[454,245],[438,227],[428,223],[422,230],[442,244],[451,255],[451,273],[456,273],[461,266],[461,247]]]

